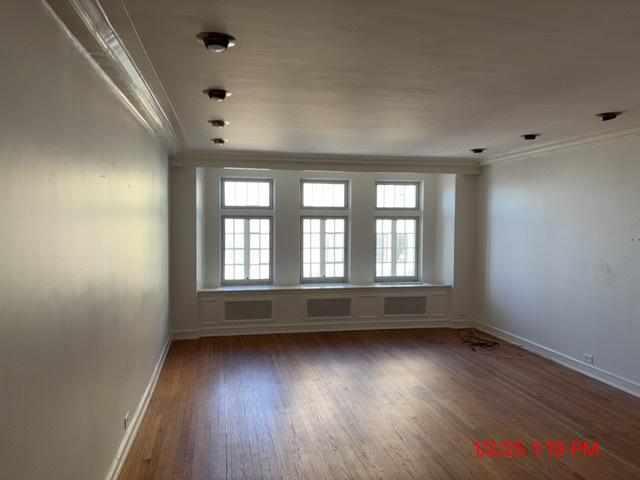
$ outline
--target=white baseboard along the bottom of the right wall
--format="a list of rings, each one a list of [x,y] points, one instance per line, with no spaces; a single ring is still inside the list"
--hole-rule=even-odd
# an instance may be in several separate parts
[[[529,350],[530,352],[548,358],[549,360],[559,363],[560,365],[570,368],[571,370],[575,370],[576,372],[582,373],[583,375],[594,378],[595,380],[599,380],[602,383],[606,383],[607,385],[615,387],[618,390],[622,390],[623,392],[629,393],[630,395],[633,395],[635,397],[640,397],[640,384],[632,380],[616,375],[615,373],[608,372],[601,368],[594,367],[593,365],[584,363],[562,352],[558,352],[557,350],[553,350],[552,348],[545,347],[544,345],[533,342],[531,340],[527,340],[524,337],[507,332],[506,330],[502,330],[501,328],[478,321],[475,322],[475,327],[485,333],[491,334],[502,340],[521,346],[525,350]]]

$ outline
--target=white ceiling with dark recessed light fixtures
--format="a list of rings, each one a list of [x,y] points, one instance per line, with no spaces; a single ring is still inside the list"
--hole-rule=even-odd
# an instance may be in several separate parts
[[[637,0],[122,1],[189,149],[494,155],[640,107]],[[208,52],[206,30],[238,45]]]

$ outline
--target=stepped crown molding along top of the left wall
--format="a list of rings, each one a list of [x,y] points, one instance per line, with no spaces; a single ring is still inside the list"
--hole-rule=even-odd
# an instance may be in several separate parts
[[[100,2],[41,1],[49,8],[50,13],[81,53],[90,59],[91,65],[110,81],[134,116],[159,138],[170,153],[184,149],[184,134],[164,89],[156,88],[154,91],[147,82]],[[124,9],[124,6],[121,8]],[[119,18],[125,18],[130,22],[126,11]],[[149,72],[149,66],[146,67],[146,71]],[[159,81],[155,72],[153,73],[157,87]],[[156,92],[159,92],[161,99]]]

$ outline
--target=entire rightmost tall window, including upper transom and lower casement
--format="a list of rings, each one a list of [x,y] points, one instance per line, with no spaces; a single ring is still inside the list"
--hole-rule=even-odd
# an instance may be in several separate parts
[[[376,281],[418,280],[420,185],[414,182],[376,183]],[[392,211],[392,213],[389,213]]]

